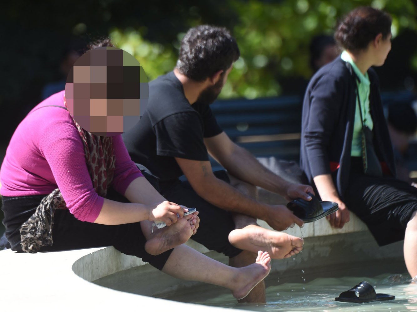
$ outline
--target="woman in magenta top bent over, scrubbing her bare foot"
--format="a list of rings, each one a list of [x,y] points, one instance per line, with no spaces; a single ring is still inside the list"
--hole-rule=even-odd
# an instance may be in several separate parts
[[[268,253],[260,251],[256,263],[234,268],[183,245],[196,233],[196,213],[183,216],[187,208],[166,201],[153,188],[120,135],[103,139],[88,133],[65,106],[64,91],[45,99],[10,140],[0,193],[12,250],[113,245],[175,277],[227,287],[237,299],[268,275]],[[100,161],[105,170],[97,166]],[[151,233],[148,222],[155,220],[168,227]],[[201,269],[189,270],[190,262]]]

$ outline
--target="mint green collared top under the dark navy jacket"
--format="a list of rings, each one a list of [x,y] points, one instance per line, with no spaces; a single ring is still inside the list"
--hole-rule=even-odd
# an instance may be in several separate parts
[[[352,68],[355,74],[358,76],[359,81],[357,81],[358,90],[359,90],[359,99],[361,99],[361,108],[362,117],[364,119],[364,126],[368,126],[369,129],[373,129],[374,122],[372,121],[371,111],[369,109],[369,93],[370,93],[370,84],[369,76],[366,72],[362,74],[356,64],[353,62],[352,57],[350,57],[347,51],[343,51],[340,57],[345,61],[349,62],[352,65]],[[356,99],[356,110],[355,110],[355,122],[353,125],[353,139],[352,139],[352,152],[351,156],[361,156],[362,154],[362,123],[361,115],[359,112],[359,103]]]

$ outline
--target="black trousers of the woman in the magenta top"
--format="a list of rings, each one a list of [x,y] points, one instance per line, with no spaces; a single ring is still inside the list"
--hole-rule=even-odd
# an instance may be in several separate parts
[[[6,238],[12,250],[22,252],[20,247],[20,226],[30,218],[45,195],[2,197],[6,227]],[[107,198],[127,202],[126,198],[115,191],[109,191]],[[103,225],[83,222],[76,219],[69,210],[58,209],[54,214],[52,228],[53,245],[44,246],[40,251],[69,250],[78,248],[93,248],[113,245],[117,250],[142,258],[153,267],[162,270],[172,250],[161,255],[148,254],[144,247],[146,238],[142,233],[140,223],[121,225]]]

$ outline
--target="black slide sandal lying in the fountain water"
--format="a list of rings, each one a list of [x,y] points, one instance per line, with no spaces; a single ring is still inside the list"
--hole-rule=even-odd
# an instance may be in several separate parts
[[[353,303],[364,303],[379,300],[394,300],[395,296],[387,294],[377,294],[374,287],[368,282],[360,282],[355,287],[342,292],[339,297],[334,298],[340,302],[353,302]]]

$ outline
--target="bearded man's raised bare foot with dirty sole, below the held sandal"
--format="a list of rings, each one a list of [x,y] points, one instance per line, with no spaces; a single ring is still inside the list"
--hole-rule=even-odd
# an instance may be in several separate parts
[[[286,233],[247,225],[230,232],[229,242],[236,248],[249,250],[266,250],[272,259],[289,258],[303,249],[304,240]]]

